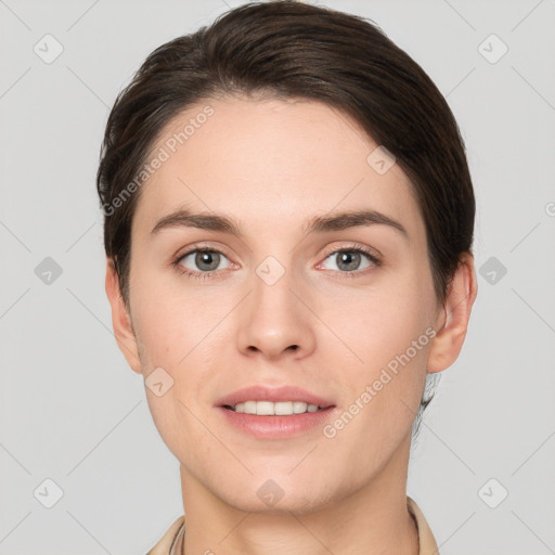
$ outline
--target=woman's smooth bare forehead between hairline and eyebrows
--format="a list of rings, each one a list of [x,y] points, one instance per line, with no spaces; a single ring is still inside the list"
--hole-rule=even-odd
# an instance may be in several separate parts
[[[349,116],[320,102],[207,99],[175,117],[153,153],[164,162],[143,185],[133,225],[152,229],[186,206],[235,215],[257,233],[364,207],[422,227],[400,166]],[[379,158],[385,165],[376,167]]]

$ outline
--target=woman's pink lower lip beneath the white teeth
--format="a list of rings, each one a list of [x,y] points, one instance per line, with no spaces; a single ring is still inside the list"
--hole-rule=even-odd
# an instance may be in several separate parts
[[[317,426],[323,426],[330,420],[330,415],[336,406],[287,416],[258,416],[256,414],[235,412],[223,406],[218,406],[217,409],[223,413],[223,417],[232,426],[235,426],[245,434],[262,439],[284,439],[299,436]]]

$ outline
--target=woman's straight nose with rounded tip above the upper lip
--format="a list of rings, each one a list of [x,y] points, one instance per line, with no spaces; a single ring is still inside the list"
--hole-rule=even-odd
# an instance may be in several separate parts
[[[288,271],[273,284],[258,274],[254,276],[253,291],[241,304],[237,314],[237,348],[241,352],[276,360],[283,357],[300,359],[314,349],[313,324],[317,319],[305,300],[308,292],[298,288]]]

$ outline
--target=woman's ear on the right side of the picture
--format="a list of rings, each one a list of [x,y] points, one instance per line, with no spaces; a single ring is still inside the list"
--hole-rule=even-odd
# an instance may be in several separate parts
[[[443,311],[434,326],[437,333],[428,352],[428,372],[441,372],[451,366],[459,357],[477,294],[474,257],[470,253],[464,253],[450,284]]]

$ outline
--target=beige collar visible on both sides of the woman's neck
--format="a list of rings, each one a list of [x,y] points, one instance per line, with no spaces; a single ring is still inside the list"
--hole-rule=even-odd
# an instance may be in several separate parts
[[[418,505],[416,505],[414,500],[409,498],[409,495],[406,495],[406,506],[418,529],[418,555],[439,555],[438,545],[428,522],[424,518]],[[185,534],[184,525],[185,517],[181,515],[146,555],[177,555],[177,550],[183,545]]]

